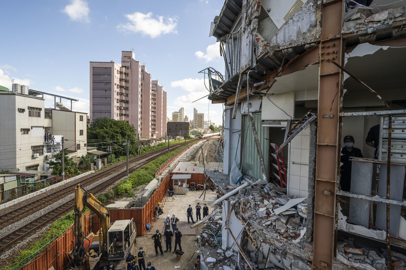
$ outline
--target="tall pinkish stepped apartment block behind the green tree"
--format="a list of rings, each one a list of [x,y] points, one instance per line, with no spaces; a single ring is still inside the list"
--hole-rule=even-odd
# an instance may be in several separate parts
[[[158,134],[155,127],[157,110],[153,104],[157,100],[152,100],[151,74],[136,60],[135,54],[122,51],[121,65],[113,61],[90,62],[90,121],[98,117],[124,120],[134,126],[141,138],[163,137],[166,132],[166,92],[163,88],[161,91],[164,99],[160,102],[161,108],[165,109],[165,118],[164,124],[159,124],[163,129]]]

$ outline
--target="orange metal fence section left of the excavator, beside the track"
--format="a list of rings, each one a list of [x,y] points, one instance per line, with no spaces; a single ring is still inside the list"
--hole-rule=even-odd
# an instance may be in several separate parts
[[[91,232],[91,216],[90,211],[85,216],[85,235]],[[68,253],[73,249],[74,240],[74,225],[65,230],[58,238],[52,241],[43,251],[36,257],[31,259],[27,264],[21,267],[23,270],[49,269],[51,266],[55,270],[63,269],[69,262]],[[19,267],[16,267],[18,269]]]

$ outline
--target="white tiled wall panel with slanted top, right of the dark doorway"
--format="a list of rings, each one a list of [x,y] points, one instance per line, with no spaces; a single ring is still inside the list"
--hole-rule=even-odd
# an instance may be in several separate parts
[[[306,127],[290,142],[288,195],[308,196],[309,130],[310,127]]]

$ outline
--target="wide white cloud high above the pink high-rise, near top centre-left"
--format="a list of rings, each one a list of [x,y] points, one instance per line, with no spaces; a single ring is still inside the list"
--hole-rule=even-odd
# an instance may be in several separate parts
[[[134,12],[126,14],[125,17],[130,22],[117,25],[119,30],[130,31],[134,33],[140,32],[143,36],[150,36],[157,38],[162,34],[177,33],[176,26],[178,24],[177,17],[158,16],[156,19],[152,18],[152,12],[143,14],[141,12]]]

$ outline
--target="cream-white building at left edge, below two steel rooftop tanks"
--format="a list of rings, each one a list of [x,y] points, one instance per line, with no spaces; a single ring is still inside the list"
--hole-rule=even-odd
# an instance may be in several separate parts
[[[44,171],[44,99],[0,91],[0,170]]]

